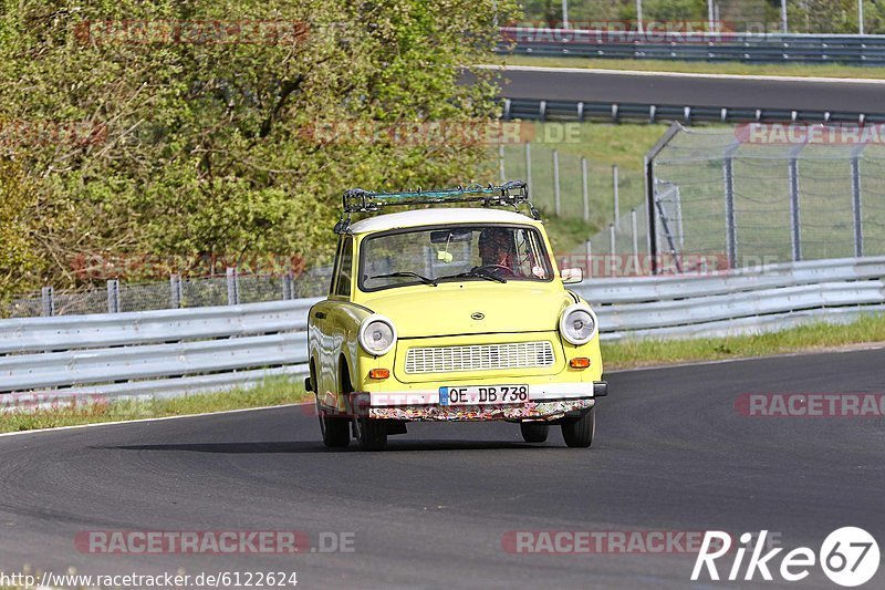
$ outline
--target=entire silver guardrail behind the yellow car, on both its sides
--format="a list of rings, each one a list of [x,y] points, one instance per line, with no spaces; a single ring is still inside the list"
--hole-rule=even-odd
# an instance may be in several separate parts
[[[590,279],[574,289],[594,306],[605,341],[730,335],[885,311],[885,257]],[[58,398],[175,396],[301,376],[315,301],[0,320],[0,401],[46,390]]]

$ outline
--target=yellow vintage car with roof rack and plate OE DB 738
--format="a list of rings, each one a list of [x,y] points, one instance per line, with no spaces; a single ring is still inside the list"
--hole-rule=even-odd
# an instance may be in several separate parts
[[[445,207],[351,224],[353,213],[416,205]],[[382,449],[408,422],[490,420],[518,422],[530,443],[560,425],[568,446],[591,445],[596,397],[607,394],[596,315],[565,289],[581,269],[558,271],[524,183],[348,190],[335,230],[329,297],[310,310],[305,380],[326,446],[353,436]]]

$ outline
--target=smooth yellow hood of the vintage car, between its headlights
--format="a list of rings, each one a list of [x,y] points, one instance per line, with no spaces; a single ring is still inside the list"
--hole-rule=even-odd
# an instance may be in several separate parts
[[[551,283],[466,281],[388,289],[362,303],[391,318],[399,338],[421,338],[556,330],[574,299]]]

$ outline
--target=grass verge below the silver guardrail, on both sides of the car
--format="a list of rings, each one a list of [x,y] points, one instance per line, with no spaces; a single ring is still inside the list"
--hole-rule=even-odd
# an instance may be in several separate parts
[[[813,352],[877,342],[885,342],[885,314],[862,318],[848,324],[815,323],[759,335],[603,344],[602,355],[606,370],[616,370]],[[311,394],[306,393],[300,383],[287,379],[272,379],[251,390],[233,390],[173,400],[118,400],[8,413],[0,418],[0,432],[183,416],[291,404],[311,398]]]

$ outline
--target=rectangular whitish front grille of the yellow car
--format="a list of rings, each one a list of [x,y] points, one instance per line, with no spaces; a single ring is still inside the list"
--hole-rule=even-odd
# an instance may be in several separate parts
[[[406,373],[529,369],[551,366],[554,360],[553,345],[546,341],[416,348],[406,353]]]

